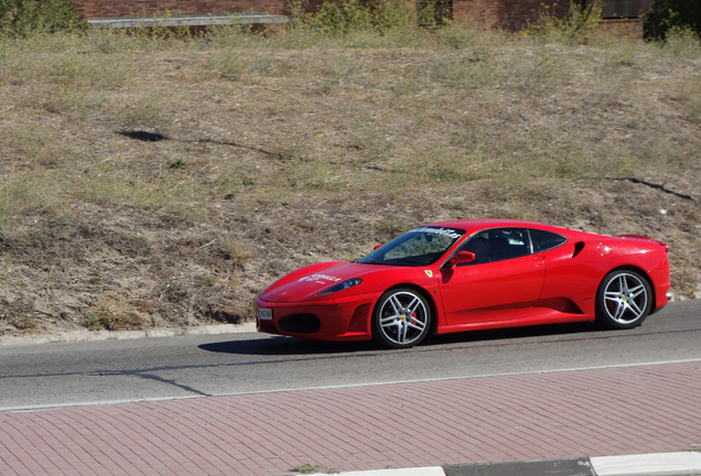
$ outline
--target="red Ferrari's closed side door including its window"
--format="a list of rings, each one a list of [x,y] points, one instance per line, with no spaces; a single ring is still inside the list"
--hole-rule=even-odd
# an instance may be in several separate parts
[[[446,325],[518,320],[528,316],[544,279],[542,256],[532,253],[522,228],[485,230],[460,250],[475,260],[441,269],[440,290]]]

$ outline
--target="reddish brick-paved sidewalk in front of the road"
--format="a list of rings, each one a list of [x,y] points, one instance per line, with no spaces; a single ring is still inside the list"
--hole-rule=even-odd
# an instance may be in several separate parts
[[[701,361],[0,413],[2,476],[279,476],[695,445]]]

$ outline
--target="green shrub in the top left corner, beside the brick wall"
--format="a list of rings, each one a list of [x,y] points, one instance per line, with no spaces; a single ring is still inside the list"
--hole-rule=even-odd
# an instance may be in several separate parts
[[[68,0],[0,0],[0,34],[3,35],[83,31],[86,26]]]

